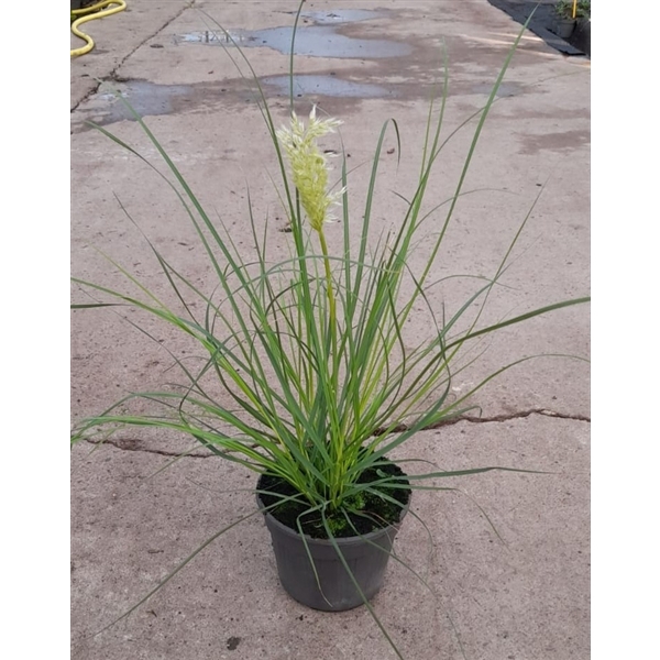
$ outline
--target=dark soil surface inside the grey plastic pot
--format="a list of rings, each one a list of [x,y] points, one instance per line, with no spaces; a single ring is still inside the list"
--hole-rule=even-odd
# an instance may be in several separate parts
[[[406,479],[404,471],[396,465],[387,461],[383,465],[366,470],[358,480],[359,483],[377,482],[383,479],[384,475],[396,477],[397,482],[400,482],[404,486],[409,486],[410,483]],[[392,482],[391,482],[392,483]],[[260,491],[270,491],[279,495],[296,495],[298,492],[289,483],[285,482],[278,476],[272,474],[264,474],[258,480],[257,488]],[[399,505],[387,502],[386,499],[378,497],[374,493],[364,493],[360,495],[360,501],[351,502],[352,507],[360,509],[362,515],[349,514],[351,522],[349,524],[343,513],[326,514],[326,518],[332,529],[336,538],[348,538],[358,535],[365,535],[377,529],[387,527],[388,525],[396,525],[402,518],[402,509],[408,504],[410,499],[409,488],[392,488],[374,486],[374,491],[381,491],[388,497],[396,499],[400,503]],[[271,506],[279,502],[279,497],[263,493],[260,495],[262,503],[265,506]],[[298,516],[305,513],[309,508],[308,502],[285,502],[279,506],[270,509],[270,514],[279,522],[298,531]],[[315,539],[327,539],[328,534],[323,526],[321,515],[318,513],[308,514],[300,518],[302,531]]]

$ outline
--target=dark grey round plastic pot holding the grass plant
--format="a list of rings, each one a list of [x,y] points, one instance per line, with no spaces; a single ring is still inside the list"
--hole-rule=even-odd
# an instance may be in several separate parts
[[[263,508],[258,495],[257,504]],[[383,586],[394,537],[407,512],[406,506],[397,525],[361,537],[336,539],[367,601]],[[273,541],[279,582],[289,596],[307,607],[324,612],[343,612],[364,603],[332,541],[306,536],[306,548],[298,531],[286,527],[270,513],[264,513],[264,517]],[[318,574],[318,583],[310,554]]]

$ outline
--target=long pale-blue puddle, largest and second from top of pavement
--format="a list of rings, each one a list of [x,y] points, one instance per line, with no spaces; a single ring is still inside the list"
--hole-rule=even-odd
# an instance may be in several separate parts
[[[358,10],[355,10],[358,11]],[[345,13],[345,12],[344,12]],[[293,28],[268,28],[266,30],[237,30],[229,33],[231,38],[241,47],[273,48],[288,55],[292,47]],[[233,46],[233,43],[222,32],[205,30],[177,34],[175,43],[193,43],[206,45]],[[353,38],[338,34],[327,25],[300,28],[296,34],[296,55],[311,57],[337,57],[343,59],[385,57],[403,57],[409,55],[413,48],[407,44],[377,38]]]

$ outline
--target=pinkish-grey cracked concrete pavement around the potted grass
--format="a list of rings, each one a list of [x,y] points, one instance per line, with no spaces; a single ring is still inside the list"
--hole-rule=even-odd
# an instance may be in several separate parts
[[[109,87],[146,117],[202,202],[218,209],[246,252],[246,178],[256,216],[268,213],[275,230],[282,229],[266,173],[274,167],[272,150],[254,97],[215,43],[200,10],[241,37],[284,122],[287,56],[278,47],[286,31],[279,29],[293,24],[295,9],[288,0],[129,0],[128,11],[87,24],[97,47],[72,62],[73,275],[121,286],[98,248],[155,292],[166,289],[117,196],[166,256],[210,287],[176,199],[144,164],[85,124],[99,122],[154,155]],[[309,54],[296,65],[300,113],[318,102],[341,119],[355,164],[373,154],[383,121],[399,122],[400,166],[397,173],[395,154],[384,156],[383,194],[375,208],[376,222],[388,227],[397,210],[388,190],[409,191],[415,177],[441,40],[449,57],[446,121],[451,129],[486,100],[518,25],[486,0],[317,0],[306,12],[302,28],[310,32],[302,47]],[[469,135],[459,135],[440,160],[429,208],[450,194],[447,182],[462,164]],[[387,147],[393,146],[391,140]],[[356,169],[351,180],[356,199],[366,169]],[[566,58],[528,33],[466,184],[488,190],[461,200],[438,276],[491,274],[539,185],[546,189],[507,273],[509,288],[493,304],[493,319],[588,293],[590,63]],[[275,230],[273,251],[284,253],[288,234]],[[453,295],[438,293],[432,300],[451,304]],[[140,322],[175,352],[189,350],[167,329]],[[112,312],[76,311],[72,333],[74,421],[125,392],[172,377],[167,355]],[[587,356],[588,334],[586,306],[514,327],[460,375],[454,392],[522,355]],[[407,448],[405,455],[444,469],[501,464],[552,474],[488,474],[455,484],[468,495],[416,494],[414,512],[436,547],[429,548],[424,528],[409,517],[396,548],[433,594],[395,563],[374,601],[405,658],[461,658],[461,645],[474,660],[588,658],[588,402],[586,363],[532,360],[479,393],[480,422],[425,431]],[[201,450],[147,479],[188,448],[176,437],[133,431],[92,453],[89,444],[74,449],[73,657],[394,658],[364,608],[327,615],[284,594],[267,532],[256,518],[218,539],[127,620],[90,637],[205,539],[252,510],[253,497],[243,488],[253,486],[253,476]],[[469,496],[491,517],[504,543]]]

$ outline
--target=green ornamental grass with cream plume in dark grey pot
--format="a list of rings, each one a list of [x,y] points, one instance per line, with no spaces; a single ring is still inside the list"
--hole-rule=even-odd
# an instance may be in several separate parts
[[[300,9],[301,4],[294,40]],[[221,28],[218,32],[232,41]],[[350,161],[340,140],[341,121],[321,117],[316,108],[297,114],[293,84],[288,118],[276,119],[257,74],[238,48],[260,95],[277,163],[275,185],[288,219],[290,248],[290,255],[282,261],[271,260],[266,234],[261,233],[250,205],[246,227],[254,253],[251,258],[241,256],[221,220],[205,210],[174,158],[120,97],[166,166],[165,185],[178,198],[182,217],[190,222],[213,277],[197,284],[150,243],[176,306],[166,305],[110,257],[108,263],[125,279],[125,289],[73,278],[80,296],[75,309],[86,309],[85,314],[109,306],[120,314],[127,308],[140,310],[194,340],[205,356],[194,370],[188,360],[173,352],[184,383],[123,397],[76,424],[73,442],[102,442],[127,427],[163,430],[193,438],[219,460],[252,471],[254,512],[264,516],[271,531],[284,588],[318,609],[365,605],[386,636],[370,600],[383,583],[394,537],[414,491],[442,490],[438,482],[447,477],[509,470],[431,468],[409,474],[405,459],[393,461],[389,457],[394,452],[405,455],[406,443],[418,431],[473,409],[475,392],[529,359],[503,364],[469,392],[457,395],[452,378],[479,358],[475,344],[501,329],[524,328],[528,319],[588,300],[551,301],[496,322],[482,320],[527,218],[521,219],[498,267],[487,278],[471,279],[475,283],[472,290],[454,309],[433,309],[428,296],[435,284],[436,258],[465,194],[475,146],[521,34],[484,108],[447,134],[442,122],[448,86],[444,73],[442,89],[431,100],[424,127],[417,183],[402,196],[405,212],[392,218],[392,229],[385,233],[374,230],[372,208],[385,138],[393,135],[399,141],[396,122],[386,122],[374,133],[369,185],[361,197],[365,202],[358,207],[352,201],[358,191],[351,186]],[[293,68],[292,55],[292,80]],[[148,162],[118,135],[97,129],[119,147]],[[440,207],[428,209],[424,200],[432,185],[433,166],[453,135],[465,130],[472,131],[472,138],[452,184],[453,193]],[[320,141],[327,140],[334,140],[339,152],[332,164],[324,153],[328,150],[320,146]],[[430,226],[433,231],[429,234]],[[414,270],[410,256],[420,239],[428,241],[429,235],[428,257]],[[331,248],[337,244],[339,249]],[[432,319],[430,338],[422,340],[407,332],[408,319],[420,307]],[[515,466],[510,470],[517,471]],[[403,657],[389,636],[387,639]]]

